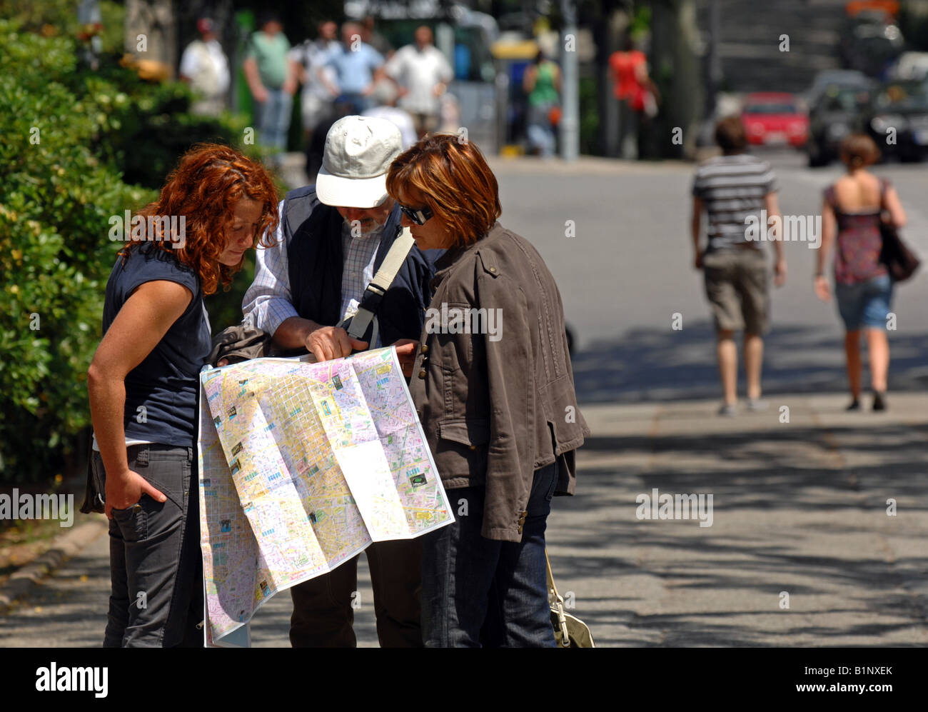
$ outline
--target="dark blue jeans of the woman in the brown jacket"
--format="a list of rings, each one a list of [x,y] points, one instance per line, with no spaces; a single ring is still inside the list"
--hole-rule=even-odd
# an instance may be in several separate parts
[[[448,490],[467,515],[422,542],[422,638],[427,648],[554,647],[545,526],[558,462],[535,471],[522,541],[481,536],[482,486]]]

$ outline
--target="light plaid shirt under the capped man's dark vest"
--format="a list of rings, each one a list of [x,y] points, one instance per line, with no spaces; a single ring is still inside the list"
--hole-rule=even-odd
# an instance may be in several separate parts
[[[245,318],[258,329],[274,334],[277,328],[290,317],[299,317],[290,293],[290,272],[287,249],[290,244],[283,235],[283,201],[278,212],[280,222],[274,233],[271,247],[259,247],[255,255],[254,281],[245,292],[241,308]],[[353,238],[351,227],[342,223],[342,304],[340,313],[344,317],[349,308],[356,309],[367,284],[374,278],[374,258],[380,247],[383,227],[361,238]],[[379,343],[371,344],[377,348]]]

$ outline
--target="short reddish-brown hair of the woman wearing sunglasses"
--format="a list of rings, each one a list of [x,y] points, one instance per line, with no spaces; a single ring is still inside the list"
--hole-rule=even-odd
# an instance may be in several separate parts
[[[501,214],[496,175],[477,146],[458,134],[432,134],[396,157],[387,192],[396,201],[419,190],[456,246],[482,238]]]

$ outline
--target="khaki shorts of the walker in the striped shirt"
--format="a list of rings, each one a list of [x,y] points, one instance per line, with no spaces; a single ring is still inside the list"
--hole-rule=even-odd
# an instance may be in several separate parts
[[[765,252],[754,248],[709,252],[702,257],[702,271],[716,331],[767,331],[770,291]]]

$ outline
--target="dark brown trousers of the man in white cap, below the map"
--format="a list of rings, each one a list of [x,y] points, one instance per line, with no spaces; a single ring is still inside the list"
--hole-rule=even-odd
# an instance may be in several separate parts
[[[380,541],[365,550],[374,589],[374,613],[381,648],[421,648],[419,623],[420,538]],[[290,644],[294,648],[353,648],[354,605],[358,605],[357,560],[342,563],[290,589],[293,615]],[[361,601],[360,604],[366,605]]]

